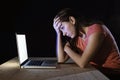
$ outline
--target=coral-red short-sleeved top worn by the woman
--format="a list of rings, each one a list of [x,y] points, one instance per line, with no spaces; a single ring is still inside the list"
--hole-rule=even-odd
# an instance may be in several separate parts
[[[85,39],[83,40],[81,37],[78,38],[77,47],[84,51],[90,35],[95,32],[103,33],[105,40],[99,52],[96,53],[95,57],[90,61],[90,64],[104,68],[120,69],[119,49],[111,32],[105,25],[93,24],[89,26]]]

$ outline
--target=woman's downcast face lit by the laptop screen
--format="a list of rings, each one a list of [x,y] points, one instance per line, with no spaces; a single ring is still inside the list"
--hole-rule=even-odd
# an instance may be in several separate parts
[[[60,26],[60,30],[62,31],[63,36],[74,38],[76,35],[75,26],[71,21],[62,22],[62,25]]]

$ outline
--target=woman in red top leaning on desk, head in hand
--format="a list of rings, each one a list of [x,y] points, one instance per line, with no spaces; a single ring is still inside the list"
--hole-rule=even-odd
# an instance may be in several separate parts
[[[57,33],[59,63],[70,57],[81,68],[91,64],[106,72],[109,69],[119,72],[119,49],[103,22],[79,17],[71,9],[65,8],[55,16],[53,26]],[[62,35],[70,38],[65,45]]]

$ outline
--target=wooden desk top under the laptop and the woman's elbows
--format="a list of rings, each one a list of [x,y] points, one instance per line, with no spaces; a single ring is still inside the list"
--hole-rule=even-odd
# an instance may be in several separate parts
[[[109,80],[93,67],[58,64],[56,69],[20,69],[18,58],[0,65],[0,80]]]

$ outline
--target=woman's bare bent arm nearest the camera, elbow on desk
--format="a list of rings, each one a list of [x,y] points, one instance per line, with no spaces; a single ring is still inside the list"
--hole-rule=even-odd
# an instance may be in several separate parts
[[[69,57],[76,62],[76,64],[78,64],[81,68],[84,68],[89,63],[90,59],[92,57],[95,57],[94,55],[98,53],[103,40],[103,33],[96,32],[89,37],[88,44],[82,55],[79,55],[76,52],[74,52],[70,48],[69,44],[65,45],[64,50],[69,55]]]

